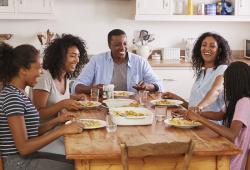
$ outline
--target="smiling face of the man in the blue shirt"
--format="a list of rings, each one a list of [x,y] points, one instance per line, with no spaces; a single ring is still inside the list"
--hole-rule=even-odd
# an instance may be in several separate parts
[[[126,35],[113,35],[109,44],[112,56],[115,58],[126,58],[127,37]]]

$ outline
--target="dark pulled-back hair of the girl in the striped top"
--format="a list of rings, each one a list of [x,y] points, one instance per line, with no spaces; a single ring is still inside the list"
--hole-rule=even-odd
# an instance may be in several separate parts
[[[0,43],[0,82],[3,86],[15,77],[21,68],[29,69],[40,57],[39,51],[29,44],[19,45],[16,48]]]

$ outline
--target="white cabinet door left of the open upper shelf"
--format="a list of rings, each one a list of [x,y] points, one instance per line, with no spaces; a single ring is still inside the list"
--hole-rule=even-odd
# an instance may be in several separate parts
[[[170,14],[170,0],[137,0],[137,14]]]

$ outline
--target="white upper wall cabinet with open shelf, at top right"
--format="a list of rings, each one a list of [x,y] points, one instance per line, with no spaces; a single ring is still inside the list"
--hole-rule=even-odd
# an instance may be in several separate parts
[[[213,1],[211,1],[213,2]],[[139,21],[227,21],[250,22],[250,0],[232,0],[234,15],[186,15],[187,0],[184,0],[184,14],[173,15],[175,0],[136,0],[135,20]],[[167,8],[166,5],[167,4]],[[193,0],[196,13],[199,0]]]

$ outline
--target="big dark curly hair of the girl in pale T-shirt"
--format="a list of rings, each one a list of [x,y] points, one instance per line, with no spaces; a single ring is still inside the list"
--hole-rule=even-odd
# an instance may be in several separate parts
[[[64,34],[62,37],[56,38],[44,50],[43,68],[49,70],[53,79],[60,79],[61,69],[70,47],[76,46],[80,52],[79,63],[73,73],[67,73],[67,78],[77,77],[83,66],[88,62],[86,51],[86,43],[79,37],[71,34]]]

